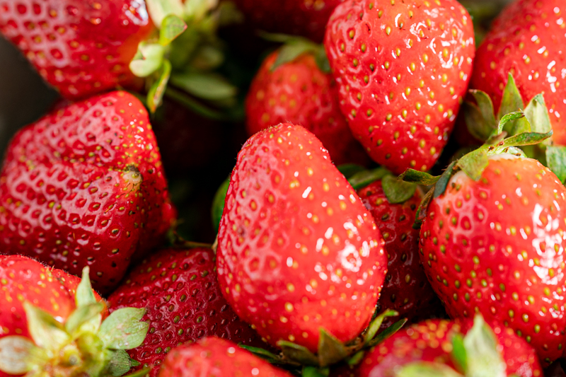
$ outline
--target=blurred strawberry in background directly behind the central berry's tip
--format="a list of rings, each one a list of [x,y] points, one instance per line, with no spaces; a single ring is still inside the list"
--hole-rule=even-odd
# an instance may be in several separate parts
[[[338,104],[338,89],[313,54],[278,65],[284,50],[270,54],[252,82],[246,100],[248,134],[291,122],[301,124],[323,143],[334,163],[366,162]]]

